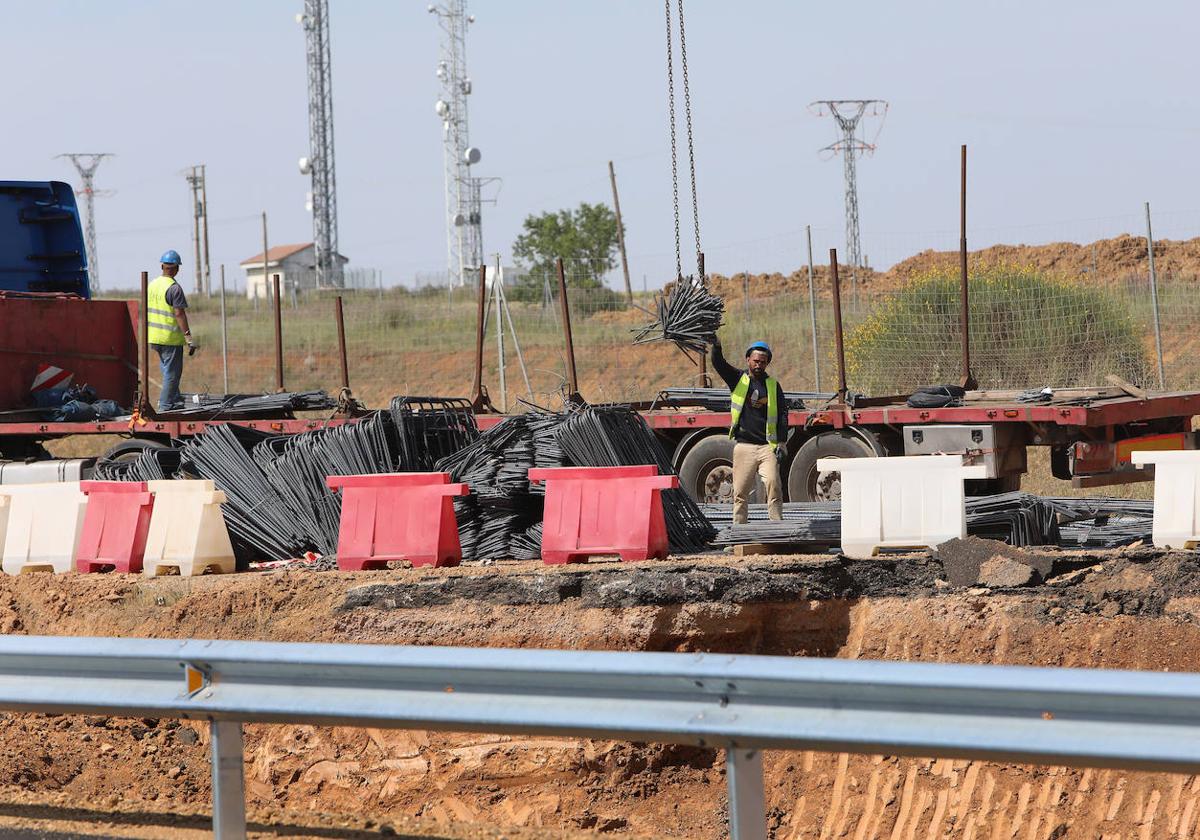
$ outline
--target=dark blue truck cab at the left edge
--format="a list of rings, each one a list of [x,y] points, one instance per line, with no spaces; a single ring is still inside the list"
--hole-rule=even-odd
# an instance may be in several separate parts
[[[90,298],[88,251],[71,185],[0,181],[0,293]]]

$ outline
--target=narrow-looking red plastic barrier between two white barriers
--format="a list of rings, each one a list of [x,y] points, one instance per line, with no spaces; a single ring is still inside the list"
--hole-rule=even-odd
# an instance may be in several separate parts
[[[146,550],[154,493],[142,481],[80,481],[88,496],[83,534],[76,550],[80,572],[113,571],[137,574]]]

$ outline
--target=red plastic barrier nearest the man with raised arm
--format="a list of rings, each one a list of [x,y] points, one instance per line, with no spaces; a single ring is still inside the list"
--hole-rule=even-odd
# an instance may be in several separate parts
[[[544,563],[582,563],[592,554],[623,560],[666,558],[662,491],[679,486],[658,467],[565,467],[530,469],[546,482]]]

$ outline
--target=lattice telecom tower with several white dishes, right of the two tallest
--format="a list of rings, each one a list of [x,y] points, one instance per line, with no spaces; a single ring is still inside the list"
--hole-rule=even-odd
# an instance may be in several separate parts
[[[444,0],[428,6],[442,28],[442,49],[437,77],[442,94],[433,106],[442,120],[442,156],[445,168],[446,270],[451,282],[470,282],[484,263],[481,229],[482,179],[473,178],[470,167],[480,161],[479,149],[468,142],[467,26],[475,16],[467,13],[467,0]]]

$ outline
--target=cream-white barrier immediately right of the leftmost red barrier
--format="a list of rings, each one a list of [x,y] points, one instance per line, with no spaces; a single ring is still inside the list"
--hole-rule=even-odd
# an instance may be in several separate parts
[[[150,481],[146,488],[155,494],[143,562],[146,577],[236,569],[221,514],[226,496],[211,481]]]

